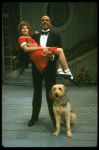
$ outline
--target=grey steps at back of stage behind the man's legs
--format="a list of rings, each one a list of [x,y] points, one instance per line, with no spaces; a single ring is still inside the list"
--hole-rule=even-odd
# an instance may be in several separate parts
[[[32,79],[32,69],[24,69],[24,72],[22,75],[20,75],[17,78],[8,78],[4,80],[4,84],[11,84],[11,85],[22,85],[22,86],[33,86],[33,79]],[[57,79],[57,84],[64,84],[64,85],[74,85],[71,81],[68,79]],[[44,81],[43,81],[44,86]]]

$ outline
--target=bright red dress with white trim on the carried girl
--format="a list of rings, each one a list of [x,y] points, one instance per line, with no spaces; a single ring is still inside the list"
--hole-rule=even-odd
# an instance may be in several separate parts
[[[18,44],[23,47],[24,45],[26,45],[27,43],[31,42],[36,43],[35,40],[33,40],[31,37],[25,37],[25,36],[21,36],[18,39]],[[42,47],[41,45],[37,45],[37,47]],[[53,53],[56,52],[57,47],[51,47],[51,50]],[[35,63],[36,68],[40,71],[43,72],[44,68],[46,67],[47,63],[48,63],[48,58],[44,57],[41,55],[41,53],[43,53],[43,49],[34,51],[34,52],[30,52],[30,59]]]

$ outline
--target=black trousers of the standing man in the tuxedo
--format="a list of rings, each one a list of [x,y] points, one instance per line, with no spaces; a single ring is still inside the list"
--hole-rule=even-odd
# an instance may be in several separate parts
[[[48,110],[50,117],[55,121],[54,112],[53,112],[53,100],[49,97],[49,91],[54,84],[56,84],[56,73],[54,70],[51,70],[47,67],[43,73],[40,73],[35,65],[33,64],[33,102],[32,102],[32,119],[37,120],[39,117],[41,103],[42,103],[42,83],[43,79],[45,80],[45,89],[46,89],[46,99],[48,104]]]

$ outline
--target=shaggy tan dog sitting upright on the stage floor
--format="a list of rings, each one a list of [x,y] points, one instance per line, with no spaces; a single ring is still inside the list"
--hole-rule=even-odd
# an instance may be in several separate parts
[[[53,111],[56,119],[56,131],[53,135],[58,136],[60,123],[67,126],[67,136],[71,137],[70,123],[73,124],[76,115],[70,110],[70,103],[66,96],[67,88],[63,84],[56,84],[51,89],[51,96],[54,98]]]

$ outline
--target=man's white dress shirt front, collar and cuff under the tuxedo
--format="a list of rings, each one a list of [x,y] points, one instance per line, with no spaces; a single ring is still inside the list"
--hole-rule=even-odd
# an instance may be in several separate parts
[[[42,31],[45,32],[44,30],[42,30]],[[48,29],[46,32],[48,32],[48,31],[50,31],[50,29]],[[42,47],[46,47],[48,35],[49,35],[49,33],[47,35],[43,34],[40,36],[40,45]],[[51,60],[54,60],[54,55],[53,55],[53,58]]]

